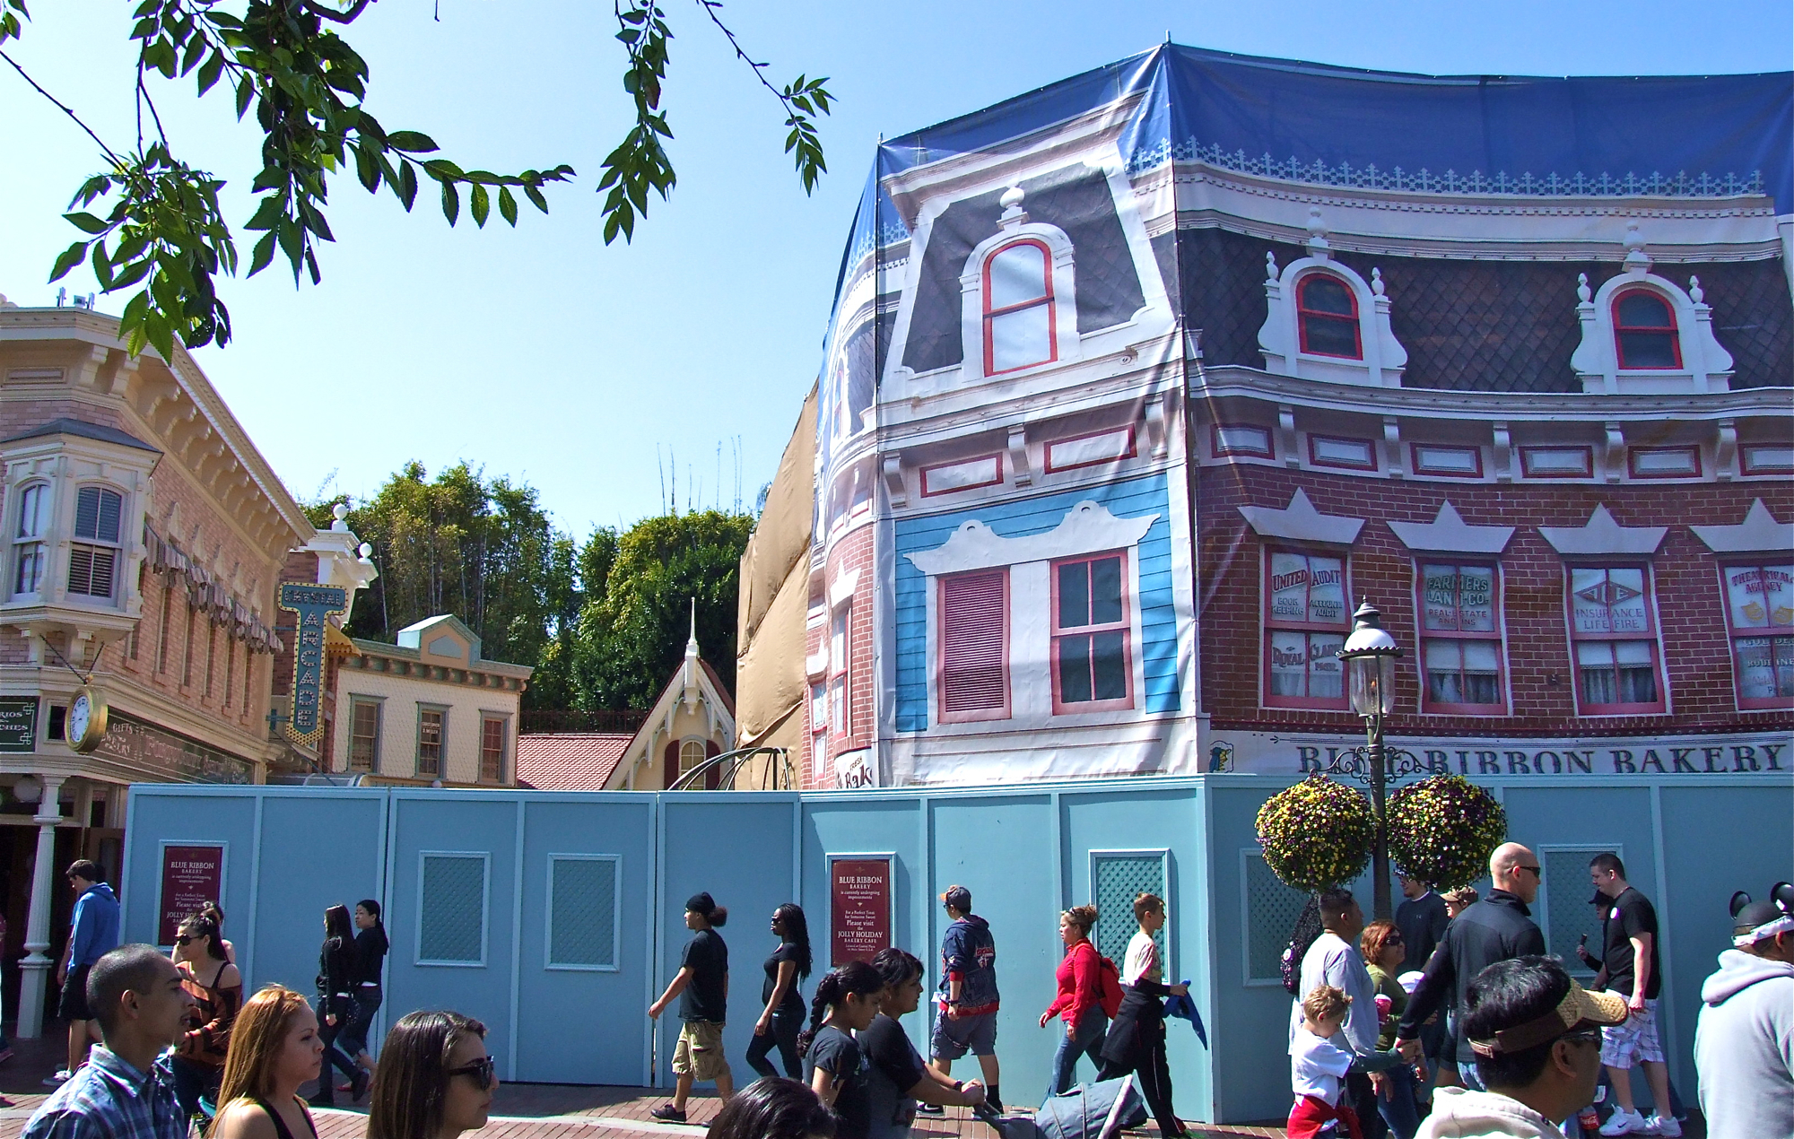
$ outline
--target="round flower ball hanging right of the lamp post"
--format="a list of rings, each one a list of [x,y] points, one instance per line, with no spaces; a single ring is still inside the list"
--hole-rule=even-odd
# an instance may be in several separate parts
[[[1459,775],[1435,775],[1399,787],[1389,796],[1387,811],[1390,861],[1433,890],[1475,883],[1507,839],[1507,811]]]

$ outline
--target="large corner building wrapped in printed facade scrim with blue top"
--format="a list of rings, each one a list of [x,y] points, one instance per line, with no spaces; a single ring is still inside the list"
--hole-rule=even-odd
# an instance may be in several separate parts
[[[1785,74],[1164,45],[883,143],[743,563],[743,743],[1315,769],[1371,599],[1421,769],[1794,771],[1789,122]]]

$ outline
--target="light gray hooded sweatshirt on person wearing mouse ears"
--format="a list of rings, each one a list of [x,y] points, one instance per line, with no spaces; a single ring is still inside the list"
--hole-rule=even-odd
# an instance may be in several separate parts
[[[1719,954],[1701,985],[1694,1065],[1708,1139],[1794,1135],[1794,965]]]

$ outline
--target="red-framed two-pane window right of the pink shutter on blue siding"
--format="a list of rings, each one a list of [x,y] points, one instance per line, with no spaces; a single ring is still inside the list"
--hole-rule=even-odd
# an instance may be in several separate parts
[[[1127,556],[1053,563],[1053,710],[1128,709]]]

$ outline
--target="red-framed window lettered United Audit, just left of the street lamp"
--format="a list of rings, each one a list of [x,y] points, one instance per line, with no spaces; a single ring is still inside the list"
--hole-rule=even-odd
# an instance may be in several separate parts
[[[1344,709],[1346,560],[1270,551],[1265,558],[1265,703]]]

